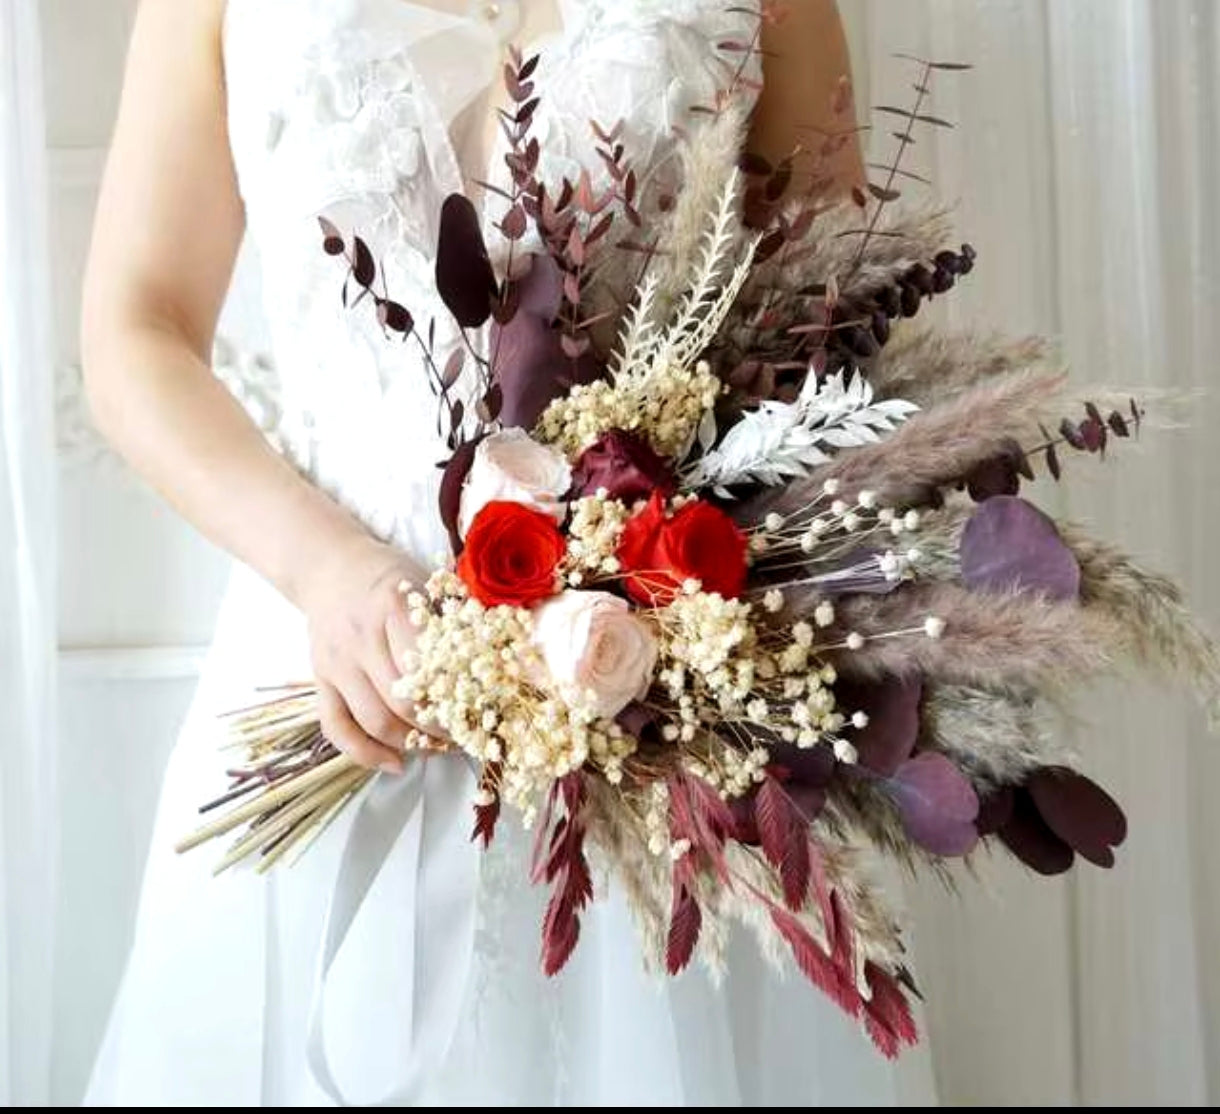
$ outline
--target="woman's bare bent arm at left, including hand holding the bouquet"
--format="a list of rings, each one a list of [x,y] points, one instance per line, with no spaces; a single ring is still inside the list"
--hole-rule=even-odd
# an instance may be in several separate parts
[[[328,737],[398,769],[389,747],[407,725],[392,710],[386,623],[405,641],[395,588],[417,570],[276,454],[209,367],[244,223],[223,11],[224,0],[140,5],[85,275],[85,387],[137,471],[305,611]]]

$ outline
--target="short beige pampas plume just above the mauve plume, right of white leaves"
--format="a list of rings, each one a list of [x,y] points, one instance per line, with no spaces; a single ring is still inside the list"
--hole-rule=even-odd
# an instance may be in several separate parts
[[[944,332],[905,325],[893,331],[869,370],[881,398],[926,408],[977,383],[1043,364],[1049,344],[1041,337]]]

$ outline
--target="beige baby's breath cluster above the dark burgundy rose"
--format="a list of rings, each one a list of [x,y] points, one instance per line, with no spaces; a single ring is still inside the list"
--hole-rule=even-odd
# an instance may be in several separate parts
[[[705,360],[684,367],[658,359],[638,371],[627,368],[612,383],[573,387],[547,408],[534,434],[576,456],[608,429],[628,429],[644,434],[662,456],[676,456],[720,392]]]

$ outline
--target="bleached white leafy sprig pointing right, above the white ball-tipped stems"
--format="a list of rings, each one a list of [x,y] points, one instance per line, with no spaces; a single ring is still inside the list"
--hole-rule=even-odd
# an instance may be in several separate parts
[[[831,459],[833,449],[854,449],[881,439],[919,408],[903,399],[874,401],[872,387],[859,372],[809,375],[794,403],[764,401],[748,411],[715,444],[715,422],[699,427],[703,454],[682,472],[688,487],[730,483],[783,483]],[[871,510],[876,495],[860,506]]]

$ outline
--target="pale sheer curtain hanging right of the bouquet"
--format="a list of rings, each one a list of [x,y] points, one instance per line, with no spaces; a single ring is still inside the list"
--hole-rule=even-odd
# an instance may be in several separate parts
[[[913,95],[895,51],[975,66],[937,74],[930,111],[956,131],[910,164],[980,253],[948,316],[1050,334],[1085,384],[1196,392],[1188,428],[1071,460],[1038,498],[1179,576],[1220,632],[1220,5],[841,4],[872,104]],[[1118,866],[1046,880],[996,855],[983,886],[915,894],[947,1104],[1220,1099],[1220,742],[1164,683],[1080,714],[1081,760],[1131,821]]]

